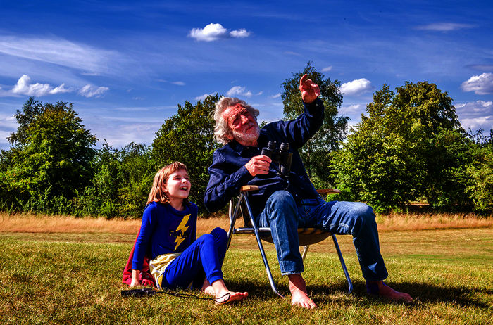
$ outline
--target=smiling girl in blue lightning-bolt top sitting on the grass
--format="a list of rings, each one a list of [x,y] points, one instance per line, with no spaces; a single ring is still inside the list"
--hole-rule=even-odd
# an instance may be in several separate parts
[[[197,206],[189,202],[187,167],[179,162],[154,176],[142,226],[135,243],[130,288],[140,286],[139,273],[149,253],[149,269],[159,290],[194,288],[214,295],[216,303],[242,300],[248,293],[229,291],[223,281],[227,234],[216,228],[196,239]]]

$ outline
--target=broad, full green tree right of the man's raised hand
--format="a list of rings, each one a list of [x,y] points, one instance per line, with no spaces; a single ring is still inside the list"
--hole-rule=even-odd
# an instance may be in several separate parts
[[[447,92],[428,82],[406,82],[396,92],[384,85],[366,113],[332,159],[345,198],[375,210],[422,197],[437,207],[463,203],[456,194],[465,189],[467,162],[459,153],[469,142]]]

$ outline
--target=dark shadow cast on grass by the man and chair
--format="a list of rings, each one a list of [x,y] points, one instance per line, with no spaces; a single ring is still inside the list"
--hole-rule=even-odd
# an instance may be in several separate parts
[[[309,279],[307,279],[309,282]],[[377,298],[366,293],[366,285],[361,281],[353,283],[354,290],[349,297],[354,297],[351,303],[356,305],[366,305],[367,302],[377,302],[380,304],[395,303],[391,300]],[[454,303],[460,307],[478,307],[489,308],[487,302],[480,301],[477,294],[493,295],[493,289],[489,288],[468,288],[466,286],[434,286],[428,283],[389,283],[397,291],[409,293],[415,302],[411,306],[419,307],[421,304],[434,304],[437,302]],[[276,283],[277,291],[282,295],[289,296],[287,283]],[[308,291],[313,294],[313,300],[317,304],[333,303],[341,298],[334,299],[327,294],[347,293],[347,283],[336,284],[335,286],[317,285],[316,283],[307,283]],[[277,295],[271,290],[268,283],[251,283],[251,281],[242,281],[242,283],[228,283],[228,288],[233,291],[248,291],[250,297],[270,300]],[[359,298],[366,298],[359,299]],[[365,302],[366,301],[366,302]],[[347,304],[348,300],[344,299]]]

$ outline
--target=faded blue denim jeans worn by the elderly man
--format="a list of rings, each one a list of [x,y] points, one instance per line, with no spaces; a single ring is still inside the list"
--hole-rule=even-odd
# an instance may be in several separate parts
[[[365,203],[313,198],[295,202],[291,193],[277,191],[256,217],[258,227],[270,227],[282,275],[304,271],[297,229],[315,227],[332,234],[353,236],[356,255],[367,281],[380,281],[388,273],[380,254],[375,213]]]

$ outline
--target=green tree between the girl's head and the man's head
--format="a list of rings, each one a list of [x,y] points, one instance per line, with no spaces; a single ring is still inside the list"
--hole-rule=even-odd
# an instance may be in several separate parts
[[[208,166],[213,152],[219,148],[214,140],[215,122],[211,116],[219,96],[208,96],[195,106],[188,101],[178,105],[177,114],[165,120],[152,143],[156,171],[180,161],[187,165],[192,191],[190,199],[204,210],[204,194],[208,183]]]

